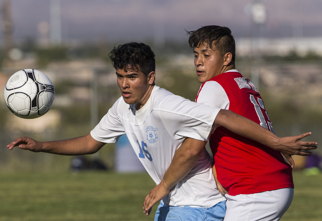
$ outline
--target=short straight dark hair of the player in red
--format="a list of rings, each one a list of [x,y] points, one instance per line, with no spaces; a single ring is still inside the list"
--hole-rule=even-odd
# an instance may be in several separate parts
[[[196,31],[187,31],[187,35],[189,35],[190,48],[194,49],[202,44],[211,49],[214,49],[212,48],[214,46],[221,56],[230,52],[232,54],[232,61],[235,61],[235,40],[229,28],[209,25],[201,27]]]

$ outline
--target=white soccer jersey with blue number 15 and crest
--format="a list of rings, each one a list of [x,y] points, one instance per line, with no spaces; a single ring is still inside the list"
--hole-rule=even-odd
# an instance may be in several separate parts
[[[91,135],[97,141],[114,143],[126,134],[144,168],[158,184],[186,137],[208,140],[219,110],[154,86],[148,101],[137,111],[135,105],[120,97]],[[191,172],[163,199],[171,206],[204,208],[223,200],[206,150]]]

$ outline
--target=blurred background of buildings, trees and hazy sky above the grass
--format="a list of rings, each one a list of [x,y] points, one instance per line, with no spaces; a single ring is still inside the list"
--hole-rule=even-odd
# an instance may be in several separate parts
[[[1,0],[0,4],[0,89],[4,91],[13,73],[26,68],[44,72],[55,87],[52,108],[34,120],[14,116],[0,99],[1,172],[59,172],[77,165],[126,171],[118,164],[124,162],[120,156],[126,141],[77,159],[18,148],[9,151],[6,146],[20,136],[49,141],[88,134],[120,96],[108,54],[125,42],[150,45],[156,54],[156,85],[194,100],[200,83],[186,31],[206,25],[231,29],[236,68],[258,87],[275,133],[281,137],[310,131],[313,134],[306,140],[322,143],[319,0]],[[314,151],[317,160],[294,157],[296,169],[320,167],[320,153],[321,148]]]

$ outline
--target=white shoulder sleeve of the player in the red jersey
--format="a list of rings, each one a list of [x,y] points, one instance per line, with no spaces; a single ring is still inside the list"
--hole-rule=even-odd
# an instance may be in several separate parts
[[[222,86],[216,81],[207,81],[203,85],[196,102],[221,109],[229,108],[228,96]]]

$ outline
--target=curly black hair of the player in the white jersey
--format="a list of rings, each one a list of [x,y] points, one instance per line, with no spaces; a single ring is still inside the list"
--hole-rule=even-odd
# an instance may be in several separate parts
[[[155,55],[150,46],[143,43],[130,42],[114,46],[109,56],[116,70],[142,71],[145,75],[155,71]]]

